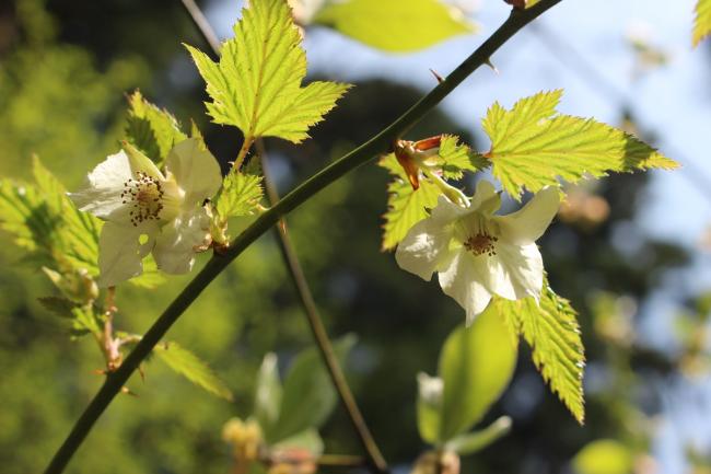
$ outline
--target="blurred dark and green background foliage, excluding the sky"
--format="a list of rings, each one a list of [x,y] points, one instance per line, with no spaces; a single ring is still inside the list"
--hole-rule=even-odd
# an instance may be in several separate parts
[[[137,88],[151,101],[170,105],[183,124],[196,119],[223,164],[236,155],[238,134],[207,125],[197,72],[185,68],[189,59],[179,42],[199,41],[179,2],[50,0],[45,7],[40,0],[18,0],[0,5],[0,20],[3,177],[28,180],[36,153],[73,188],[91,166],[116,151],[125,127],[125,94]],[[313,140],[299,148],[267,140],[278,184],[290,188],[370,138],[419,95],[384,81],[361,83],[314,129]],[[410,138],[443,131],[474,141],[436,112]],[[587,425],[580,428],[553,396],[540,395],[543,382],[522,346],[512,385],[481,421],[486,426],[508,414],[512,431],[466,459],[464,472],[560,473],[586,443],[602,438],[617,438],[636,452],[649,449],[648,439],[638,439],[646,425],[632,421],[640,419],[642,409],[658,413],[658,404],[638,396],[645,380],[636,374],[644,370],[648,377],[663,377],[677,370],[677,361],[642,345],[613,344],[609,334],[626,340],[619,337],[623,323],[615,321],[613,312],[619,307],[590,298],[593,290],[603,290],[613,294],[610,301],[623,294],[640,304],[665,270],[687,262],[681,248],[667,243],[641,238],[631,253],[613,243],[620,226],[633,219],[645,180],[632,175],[604,181],[597,194],[610,205],[606,221],[593,227],[574,220],[558,224],[541,241],[551,285],[581,313],[588,362],[611,374],[615,383],[591,393]],[[463,315],[436,286],[400,271],[381,253],[387,181],[387,173],[376,166],[359,170],[290,215],[289,223],[330,334],[359,336],[347,366],[349,381],[386,456],[400,465],[423,448],[416,420],[416,374],[435,372],[442,344]],[[235,221],[232,232],[249,219]],[[7,234],[0,234],[0,465],[3,473],[25,474],[46,465],[100,386],[103,375],[93,371],[103,360],[90,339],[70,340],[67,322],[37,301],[53,294],[45,275],[23,263]],[[144,332],[188,278],[171,278],[151,291],[121,289],[117,325]],[[693,308],[690,321],[707,317],[708,308]],[[611,314],[613,322],[601,322],[602,313]],[[698,355],[693,332],[680,331],[690,342],[687,352]],[[233,416],[249,414],[264,355],[279,351],[285,367],[311,344],[271,238],[250,247],[210,286],[170,338],[209,361],[235,402],[215,398],[149,361],[144,380],[136,375],[129,383],[138,397],[115,401],[69,472],[226,472],[230,453],[220,440],[221,427]],[[323,436],[326,452],[360,453],[340,408]]]

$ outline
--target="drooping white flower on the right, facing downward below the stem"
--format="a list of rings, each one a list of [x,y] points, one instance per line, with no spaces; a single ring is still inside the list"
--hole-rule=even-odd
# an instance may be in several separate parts
[[[466,310],[471,323],[492,294],[539,298],[544,265],[535,241],[558,204],[558,189],[546,187],[518,211],[494,216],[501,197],[491,183],[480,181],[468,207],[440,196],[431,216],[400,242],[395,259],[427,281],[438,271],[442,290]]]

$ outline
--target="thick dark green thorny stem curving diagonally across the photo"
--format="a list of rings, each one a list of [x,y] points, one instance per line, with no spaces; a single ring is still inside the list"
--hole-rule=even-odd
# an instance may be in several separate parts
[[[401,137],[424,115],[432,111],[445,96],[459,85],[475,70],[486,65],[503,44],[514,36],[521,28],[538,18],[540,14],[560,3],[562,0],[540,0],[526,10],[514,10],[506,21],[479,46],[467,59],[464,60],[444,81],[438,84],[429,94],[410,107],[397,120],[377,134],[368,142],[361,144],[350,153],[343,155],[326,166],[291,193],[287,194],[272,208],[259,216],[232,242],[223,255],[213,255],[193,280],[165,309],[163,314],[153,323],[136,348],[128,355],[124,363],[115,371],[107,374],[104,384],[91,401],[84,413],[79,417],[69,436],[50,461],[45,474],[59,474],[63,472],[77,449],[81,446],[86,435],[112,403],[114,397],[131,377],[139,365],[151,354],[153,347],[167,333],[171,326],[180,317],[188,307],[198,298],[210,282],[230,263],[235,259],[259,236],[275,226],[282,216],[308,200],[313,195],[334,183],[345,174],[372,161],[380,153],[389,150],[391,143]]]

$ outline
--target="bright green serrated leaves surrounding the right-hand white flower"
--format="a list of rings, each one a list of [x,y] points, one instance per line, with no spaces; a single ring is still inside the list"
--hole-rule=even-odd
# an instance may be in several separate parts
[[[561,94],[540,92],[516,102],[510,111],[494,103],[482,122],[491,140],[485,153],[471,151],[456,137],[444,136],[438,158],[442,177],[461,180],[465,173],[491,167],[503,189],[520,200],[525,192],[561,186],[562,181],[576,183],[609,172],[677,167],[676,162],[622,130],[592,118],[558,114]],[[383,233],[383,248],[389,250],[428,216],[441,190],[427,174],[420,187],[412,189],[394,154],[386,155],[381,165],[394,175]],[[540,301],[497,299],[487,311],[508,321],[515,338],[523,336],[533,347],[534,363],[544,379],[582,423],[584,354],[570,303],[546,284]]]

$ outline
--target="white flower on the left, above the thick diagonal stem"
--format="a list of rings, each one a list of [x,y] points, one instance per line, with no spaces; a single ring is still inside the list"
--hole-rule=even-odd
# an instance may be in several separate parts
[[[195,253],[210,244],[203,200],[221,184],[217,160],[195,138],[171,150],[165,174],[129,143],[100,163],[69,194],[79,209],[106,221],[98,241],[100,286],[140,275],[151,252],[163,271],[189,271]]]

